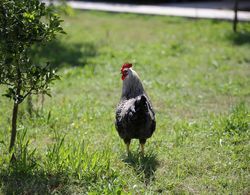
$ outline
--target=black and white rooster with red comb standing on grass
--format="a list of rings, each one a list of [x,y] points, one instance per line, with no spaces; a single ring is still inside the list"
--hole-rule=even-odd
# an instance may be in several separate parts
[[[144,155],[146,140],[155,131],[155,112],[132,64],[125,63],[121,68],[121,75],[123,86],[116,108],[116,130],[127,145],[128,155],[131,139],[139,139],[141,153]]]

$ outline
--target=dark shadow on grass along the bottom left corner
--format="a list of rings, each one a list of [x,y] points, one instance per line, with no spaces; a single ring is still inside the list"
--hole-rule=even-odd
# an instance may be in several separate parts
[[[68,177],[65,174],[46,175],[35,173],[0,173],[3,194],[51,194],[67,191]]]

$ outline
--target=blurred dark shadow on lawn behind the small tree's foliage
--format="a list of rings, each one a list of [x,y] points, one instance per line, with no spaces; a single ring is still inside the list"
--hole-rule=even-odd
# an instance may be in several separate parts
[[[97,55],[97,48],[91,42],[67,43],[55,40],[45,46],[36,46],[31,51],[35,62],[49,61],[53,68],[84,66],[88,59]]]

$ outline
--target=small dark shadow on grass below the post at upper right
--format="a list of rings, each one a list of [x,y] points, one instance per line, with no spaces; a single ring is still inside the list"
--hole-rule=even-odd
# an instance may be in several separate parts
[[[250,44],[250,32],[230,33],[228,39],[235,45]]]

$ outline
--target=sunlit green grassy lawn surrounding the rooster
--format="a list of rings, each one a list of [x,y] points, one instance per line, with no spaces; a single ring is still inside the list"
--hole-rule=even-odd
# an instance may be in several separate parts
[[[66,36],[34,56],[61,80],[18,121],[9,166],[12,102],[0,97],[0,194],[249,194],[250,24],[76,11]],[[157,129],[132,156],[114,127],[120,67],[132,62]],[[4,88],[0,88],[1,94]]]

